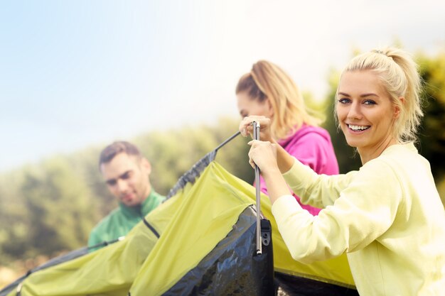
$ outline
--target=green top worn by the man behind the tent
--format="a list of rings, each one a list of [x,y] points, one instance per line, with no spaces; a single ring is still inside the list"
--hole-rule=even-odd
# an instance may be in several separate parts
[[[166,197],[151,190],[140,206],[127,207],[119,202],[119,207],[100,221],[90,233],[88,246],[95,246],[104,241],[113,241],[120,236],[125,236],[132,228],[138,224],[146,214],[159,206]]]

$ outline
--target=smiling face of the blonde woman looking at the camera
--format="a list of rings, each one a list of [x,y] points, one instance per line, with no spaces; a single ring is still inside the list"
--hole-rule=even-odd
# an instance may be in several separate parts
[[[399,109],[372,71],[345,72],[338,86],[338,122],[349,146],[360,156],[377,157],[395,143],[393,122]]]

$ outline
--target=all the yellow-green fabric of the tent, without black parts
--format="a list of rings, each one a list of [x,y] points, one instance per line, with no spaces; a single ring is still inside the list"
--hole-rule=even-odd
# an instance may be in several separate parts
[[[195,268],[255,203],[254,187],[213,161],[195,184],[149,213],[123,241],[28,276],[22,296],[163,295]],[[269,199],[262,214],[272,224],[274,270],[354,289],[345,256],[304,265],[294,261],[279,235]],[[15,291],[8,296],[16,295]]]

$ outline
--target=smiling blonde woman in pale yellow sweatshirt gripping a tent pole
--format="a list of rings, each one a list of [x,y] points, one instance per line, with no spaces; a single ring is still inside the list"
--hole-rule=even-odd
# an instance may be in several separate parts
[[[360,295],[445,295],[445,212],[427,159],[414,146],[422,119],[417,65],[397,48],[372,50],[343,70],[338,124],[363,166],[345,175],[316,175],[271,138],[270,121],[247,117],[269,190],[272,213],[292,257],[302,263],[347,253]],[[301,202],[323,208],[318,216]]]

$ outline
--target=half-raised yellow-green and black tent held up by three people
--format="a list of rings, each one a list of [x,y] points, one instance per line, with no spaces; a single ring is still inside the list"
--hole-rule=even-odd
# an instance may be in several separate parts
[[[248,296],[277,288],[284,295],[358,295],[345,256],[310,265],[291,258],[264,194],[262,231],[272,240],[258,256],[254,187],[214,158],[209,153],[184,174],[122,241],[36,270],[0,296]]]

